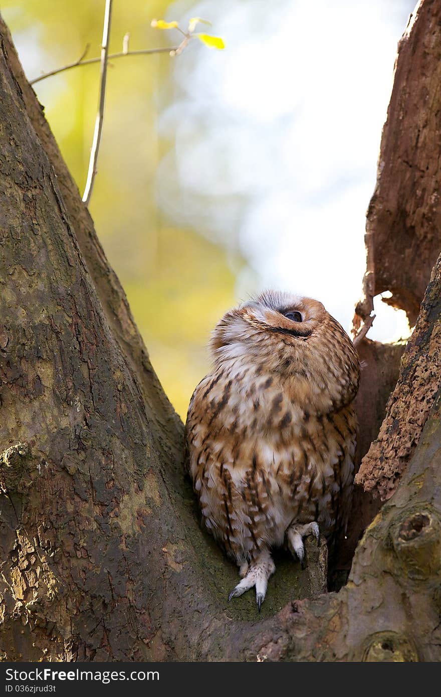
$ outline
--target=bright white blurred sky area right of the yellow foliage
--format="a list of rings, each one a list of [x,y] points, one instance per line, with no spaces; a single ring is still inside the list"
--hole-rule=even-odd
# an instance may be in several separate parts
[[[176,144],[158,177],[164,210],[240,250],[257,289],[318,298],[345,328],[365,270],[364,216],[396,45],[414,6],[180,0],[167,15],[211,20],[226,50],[198,43],[176,59],[160,120]],[[238,300],[250,284],[239,279]],[[371,338],[405,332],[404,313],[377,302],[376,314]]]

